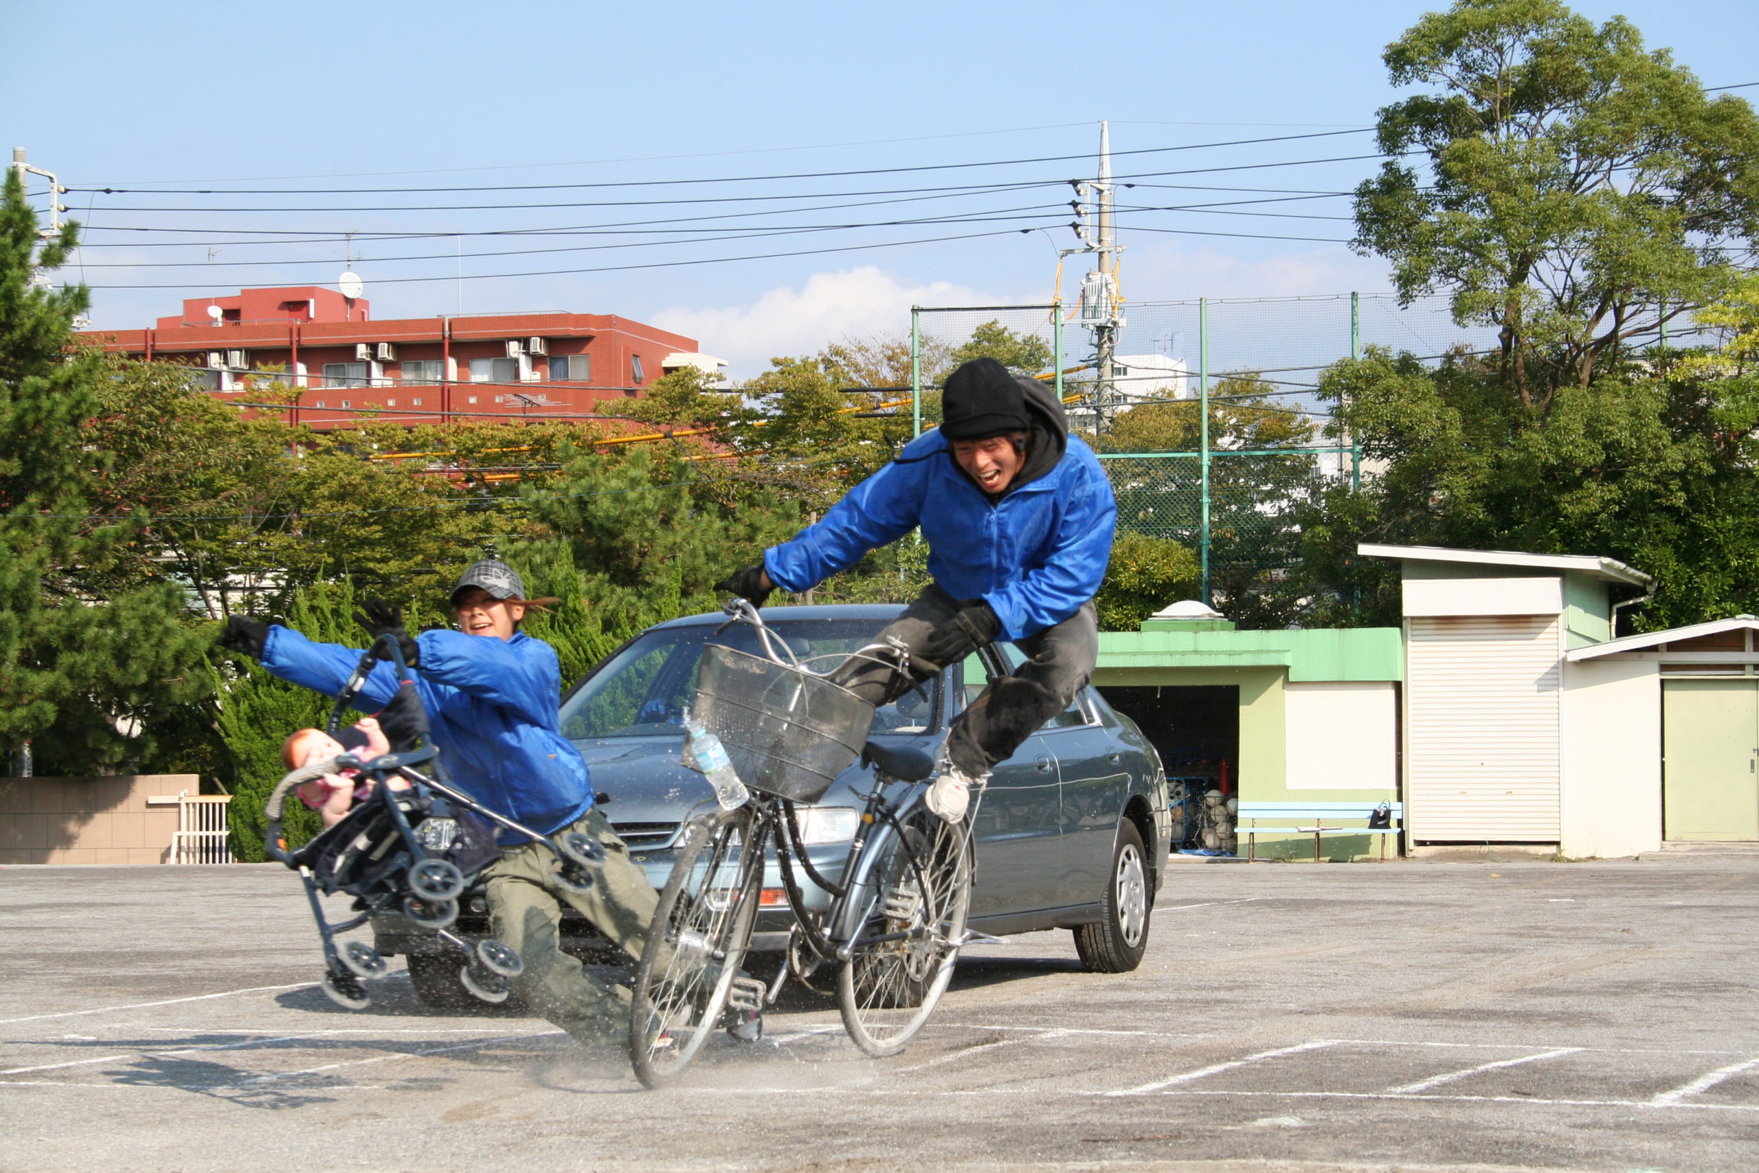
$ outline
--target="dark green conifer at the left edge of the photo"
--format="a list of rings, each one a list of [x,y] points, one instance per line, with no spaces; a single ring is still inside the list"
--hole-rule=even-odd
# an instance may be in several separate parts
[[[0,197],[0,749],[39,772],[114,770],[151,751],[155,710],[202,693],[208,635],[164,579],[118,587],[134,510],[95,514],[84,440],[104,361],[76,348],[84,287],[46,288],[77,225],[39,237],[16,171]],[[40,250],[39,250],[40,244]]]

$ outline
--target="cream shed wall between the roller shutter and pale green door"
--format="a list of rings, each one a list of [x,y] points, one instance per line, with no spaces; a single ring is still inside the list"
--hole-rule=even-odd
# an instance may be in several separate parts
[[[1657,665],[1606,656],[1564,665],[1564,855],[1660,849]]]

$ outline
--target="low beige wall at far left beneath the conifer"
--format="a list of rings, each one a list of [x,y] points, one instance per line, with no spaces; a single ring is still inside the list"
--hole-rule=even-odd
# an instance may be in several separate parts
[[[0,777],[0,863],[164,863],[193,774]]]

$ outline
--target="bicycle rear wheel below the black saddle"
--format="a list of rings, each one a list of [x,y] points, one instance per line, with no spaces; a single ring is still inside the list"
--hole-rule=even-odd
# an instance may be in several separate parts
[[[969,827],[916,807],[902,834],[874,844],[860,936],[837,973],[837,1006],[855,1045],[895,1055],[934,1013],[953,978],[971,907]],[[857,874],[864,874],[857,863]]]

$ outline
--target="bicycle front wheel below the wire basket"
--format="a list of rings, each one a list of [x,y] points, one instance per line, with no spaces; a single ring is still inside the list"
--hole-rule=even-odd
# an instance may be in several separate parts
[[[630,1008],[630,1059],[646,1087],[682,1075],[719,1025],[758,914],[763,837],[748,804],[697,823],[679,848]]]

